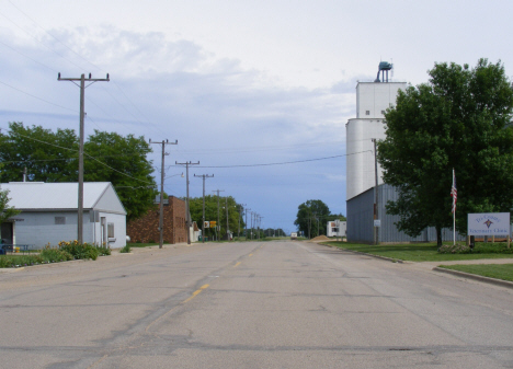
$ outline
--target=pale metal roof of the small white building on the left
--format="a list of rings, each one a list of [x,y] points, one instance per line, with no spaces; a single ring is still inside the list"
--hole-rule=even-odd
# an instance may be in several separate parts
[[[16,209],[77,210],[78,208],[78,183],[10,182],[0,186],[1,189],[9,189],[9,205]],[[112,188],[110,182],[84,182],[83,208],[94,208],[110,188]]]

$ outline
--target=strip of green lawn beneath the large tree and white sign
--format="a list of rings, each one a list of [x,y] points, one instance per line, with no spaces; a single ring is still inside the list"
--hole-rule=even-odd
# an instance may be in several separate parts
[[[470,261],[479,258],[513,258],[513,253],[498,253],[498,249],[505,249],[505,244],[488,243],[477,244],[475,253],[470,254],[441,254],[435,243],[368,245],[346,242],[328,241],[322,244],[333,245],[340,249],[354,250],[367,254],[386,256],[409,262],[444,262],[444,261]],[[487,253],[487,250],[493,252]]]

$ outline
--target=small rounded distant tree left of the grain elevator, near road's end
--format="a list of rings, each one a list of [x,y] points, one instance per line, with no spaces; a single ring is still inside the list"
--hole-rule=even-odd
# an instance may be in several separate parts
[[[326,234],[326,222],[330,216],[328,205],[321,200],[307,200],[299,205],[294,224],[309,237]]]

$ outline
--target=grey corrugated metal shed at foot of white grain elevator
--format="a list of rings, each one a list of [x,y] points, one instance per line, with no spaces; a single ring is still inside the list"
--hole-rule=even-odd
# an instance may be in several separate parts
[[[367,189],[347,200],[347,242],[374,242],[374,188]],[[407,242],[436,242],[436,230],[434,227],[426,228],[421,235],[412,238],[397,229],[395,222],[399,216],[386,212],[385,205],[389,200],[397,200],[399,194],[394,186],[383,184],[378,186],[378,215],[380,227],[378,228],[379,243],[407,243]],[[453,240],[453,230],[443,229],[442,239]],[[457,241],[465,241],[465,237],[456,233]]]

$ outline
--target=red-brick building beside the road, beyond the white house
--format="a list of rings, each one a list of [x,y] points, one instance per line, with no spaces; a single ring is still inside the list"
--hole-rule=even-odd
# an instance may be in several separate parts
[[[159,242],[159,207],[155,207],[139,219],[126,224],[126,234],[132,242]],[[163,204],[163,242],[187,242],[187,227],[185,222],[185,201],[174,196],[169,196]]]

